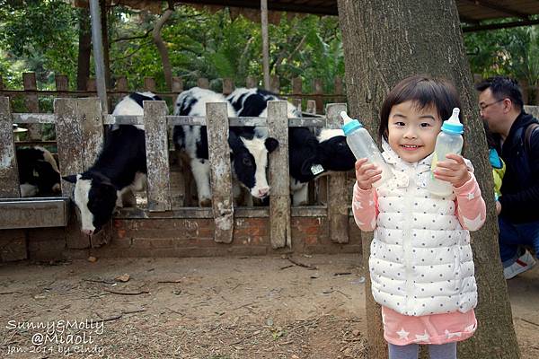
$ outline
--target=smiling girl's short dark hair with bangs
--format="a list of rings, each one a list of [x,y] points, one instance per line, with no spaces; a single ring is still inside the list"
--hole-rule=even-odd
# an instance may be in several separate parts
[[[451,116],[455,107],[461,109],[461,102],[453,84],[426,75],[407,77],[397,83],[385,97],[380,109],[380,138],[387,140],[389,113],[393,106],[406,101],[416,102],[418,109],[434,106],[442,121]],[[462,113],[459,119],[462,122]]]

